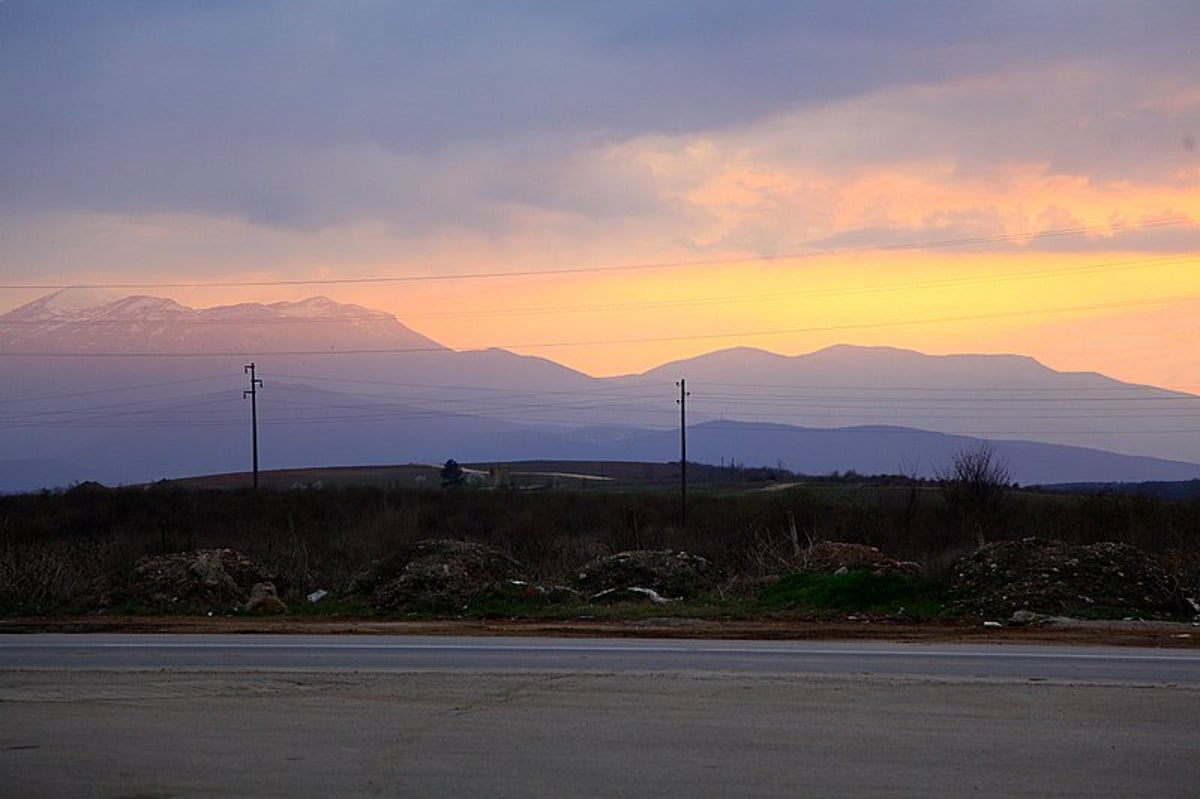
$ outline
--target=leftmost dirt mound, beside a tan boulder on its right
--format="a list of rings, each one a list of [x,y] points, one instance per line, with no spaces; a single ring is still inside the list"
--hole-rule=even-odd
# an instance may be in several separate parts
[[[268,576],[240,552],[193,549],[140,558],[124,594],[139,606],[228,611],[242,606],[254,584],[263,582]]]

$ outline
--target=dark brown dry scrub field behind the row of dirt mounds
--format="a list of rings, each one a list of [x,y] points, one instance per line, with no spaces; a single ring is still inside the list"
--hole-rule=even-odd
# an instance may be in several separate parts
[[[1195,553],[1200,501],[1016,493],[989,535]],[[928,485],[700,488],[686,527],[668,489],[89,487],[0,497],[0,611],[71,608],[101,596],[106,581],[125,578],[144,554],[220,547],[253,558],[295,601],[425,539],[491,545],[542,581],[602,554],[677,549],[750,583],[786,571],[815,541],[878,547],[934,577],[974,545]]]

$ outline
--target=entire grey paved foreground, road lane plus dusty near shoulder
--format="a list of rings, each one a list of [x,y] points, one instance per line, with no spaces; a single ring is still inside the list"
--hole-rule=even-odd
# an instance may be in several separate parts
[[[0,795],[1192,797],[1192,650],[0,637]]]

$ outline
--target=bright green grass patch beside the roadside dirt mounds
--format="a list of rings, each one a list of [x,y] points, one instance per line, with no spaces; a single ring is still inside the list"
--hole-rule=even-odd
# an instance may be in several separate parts
[[[943,591],[925,577],[854,570],[841,575],[796,571],[763,589],[764,609],[902,614],[932,618],[946,611]]]

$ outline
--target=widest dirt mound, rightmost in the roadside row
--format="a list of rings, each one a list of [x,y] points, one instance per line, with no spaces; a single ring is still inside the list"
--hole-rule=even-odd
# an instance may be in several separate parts
[[[1078,618],[1166,617],[1183,611],[1176,581],[1126,543],[1001,541],[953,566],[954,607],[1009,618],[1016,611]]]

